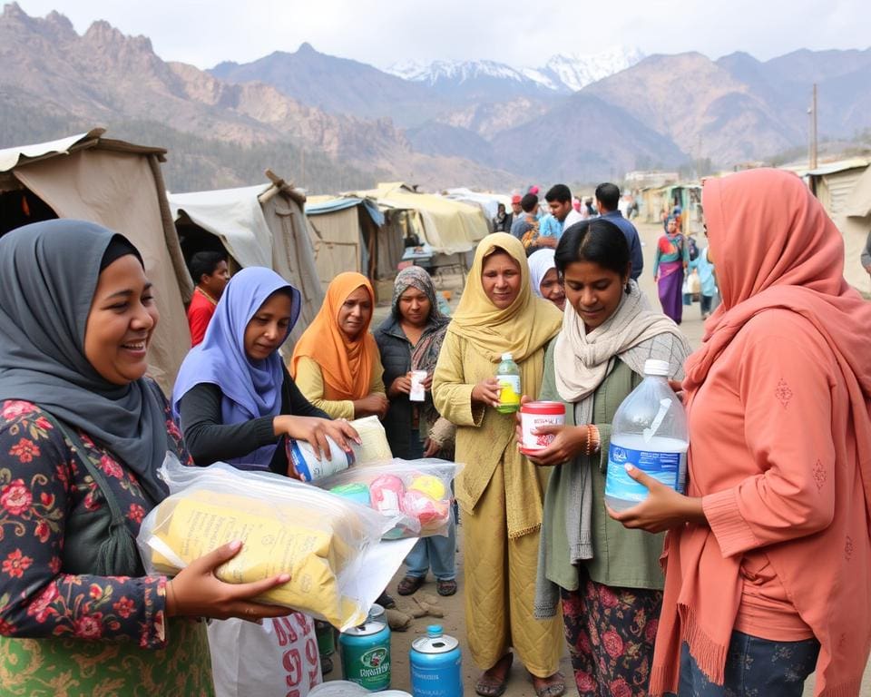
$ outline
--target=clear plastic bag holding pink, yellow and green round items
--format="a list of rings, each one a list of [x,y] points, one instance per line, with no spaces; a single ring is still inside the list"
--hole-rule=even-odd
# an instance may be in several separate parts
[[[451,482],[462,467],[436,458],[394,458],[350,467],[315,484],[395,520],[384,535],[387,540],[447,535],[454,500]]]

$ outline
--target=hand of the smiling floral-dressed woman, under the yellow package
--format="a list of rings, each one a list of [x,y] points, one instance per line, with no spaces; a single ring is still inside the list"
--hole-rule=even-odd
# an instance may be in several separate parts
[[[286,584],[290,574],[280,574],[250,584],[225,584],[215,575],[215,569],[239,554],[240,541],[221,545],[218,549],[182,569],[166,584],[166,614],[169,617],[213,617],[226,620],[239,617],[257,622],[264,617],[282,617],[290,611],[279,605],[258,603],[253,598]]]

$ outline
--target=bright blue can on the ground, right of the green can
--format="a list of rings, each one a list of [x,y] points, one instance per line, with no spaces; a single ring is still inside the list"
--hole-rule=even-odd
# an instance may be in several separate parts
[[[412,642],[409,659],[414,697],[463,697],[460,643],[441,625],[426,627],[426,636]]]

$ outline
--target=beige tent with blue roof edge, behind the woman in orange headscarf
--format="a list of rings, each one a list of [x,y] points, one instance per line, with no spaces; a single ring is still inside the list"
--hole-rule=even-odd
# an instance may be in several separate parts
[[[357,270],[372,280],[392,279],[405,249],[404,211],[382,211],[359,196],[310,196],[306,215],[321,282]]]

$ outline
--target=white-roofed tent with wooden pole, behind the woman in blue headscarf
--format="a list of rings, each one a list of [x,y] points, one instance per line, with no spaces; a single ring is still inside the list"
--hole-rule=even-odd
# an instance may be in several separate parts
[[[289,336],[292,343],[315,319],[324,293],[302,211],[305,194],[271,172],[267,174],[268,184],[170,193],[168,198],[180,233],[191,227],[206,231],[240,267],[269,267],[300,290],[302,311]],[[190,255],[190,250],[185,251]]]

